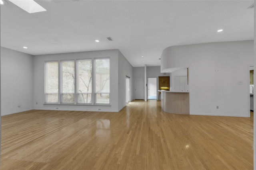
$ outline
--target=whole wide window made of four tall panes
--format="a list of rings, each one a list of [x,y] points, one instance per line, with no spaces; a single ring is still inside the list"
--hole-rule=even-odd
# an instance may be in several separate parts
[[[45,103],[110,104],[109,58],[47,61],[45,68]]]

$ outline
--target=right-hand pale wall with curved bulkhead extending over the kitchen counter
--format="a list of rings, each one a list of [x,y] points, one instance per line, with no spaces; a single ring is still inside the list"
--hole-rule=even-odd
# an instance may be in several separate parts
[[[253,41],[174,46],[163,51],[161,70],[189,67],[190,114],[249,117],[253,55]]]

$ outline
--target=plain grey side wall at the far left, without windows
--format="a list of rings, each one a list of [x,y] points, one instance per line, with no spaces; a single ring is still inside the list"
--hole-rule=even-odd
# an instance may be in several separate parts
[[[32,89],[33,56],[1,47],[1,115],[31,110]]]

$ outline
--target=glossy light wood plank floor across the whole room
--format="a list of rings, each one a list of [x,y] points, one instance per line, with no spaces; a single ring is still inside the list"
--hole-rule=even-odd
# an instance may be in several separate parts
[[[135,100],[119,113],[2,117],[2,170],[252,170],[253,116],[174,115]]]

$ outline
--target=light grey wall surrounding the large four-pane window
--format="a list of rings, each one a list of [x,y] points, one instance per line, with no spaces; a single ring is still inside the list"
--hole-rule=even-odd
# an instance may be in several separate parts
[[[91,59],[110,57],[110,105],[74,106],[44,104],[44,62],[65,59]],[[118,111],[118,50],[88,51],[34,56],[34,103],[35,109],[78,110],[78,111]],[[125,86],[125,85],[124,85]],[[124,92],[125,94],[125,92]],[[125,100],[124,100],[125,101]],[[37,103],[37,104],[36,104]],[[58,107],[58,109],[56,109]]]

